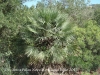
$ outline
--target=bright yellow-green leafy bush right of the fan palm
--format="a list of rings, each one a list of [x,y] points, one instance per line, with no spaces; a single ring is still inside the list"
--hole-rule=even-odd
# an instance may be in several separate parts
[[[98,62],[100,62],[100,28],[94,21],[90,20],[83,28],[76,26],[73,32],[74,39],[69,46],[69,49],[73,52],[72,56],[69,56],[72,65],[85,69],[97,68]]]

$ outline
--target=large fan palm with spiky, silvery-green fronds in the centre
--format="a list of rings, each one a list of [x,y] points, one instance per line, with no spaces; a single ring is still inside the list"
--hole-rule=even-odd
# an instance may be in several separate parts
[[[28,16],[30,24],[27,25],[26,35],[29,37],[24,35],[24,39],[28,43],[26,54],[30,63],[47,65],[65,61],[72,28],[67,16],[56,8],[37,8],[34,14]]]

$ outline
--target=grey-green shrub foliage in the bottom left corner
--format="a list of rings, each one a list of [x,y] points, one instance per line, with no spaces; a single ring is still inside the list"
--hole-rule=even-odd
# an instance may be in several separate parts
[[[8,57],[11,53],[0,53],[0,74],[1,75],[13,75],[10,67]]]

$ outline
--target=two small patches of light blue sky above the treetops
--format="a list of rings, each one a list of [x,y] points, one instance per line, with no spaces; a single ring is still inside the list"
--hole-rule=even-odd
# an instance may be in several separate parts
[[[41,0],[28,1],[28,2],[25,2],[24,5],[27,5],[28,7],[31,7],[32,5],[36,6],[38,1],[41,1]],[[100,4],[100,0],[90,0],[90,4]]]

